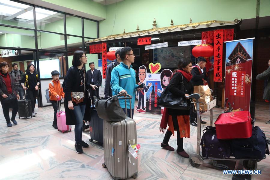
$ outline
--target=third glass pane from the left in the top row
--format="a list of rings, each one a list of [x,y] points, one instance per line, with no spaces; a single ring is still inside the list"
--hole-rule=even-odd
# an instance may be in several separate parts
[[[66,15],[67,34],[82,36],[82,19]]]

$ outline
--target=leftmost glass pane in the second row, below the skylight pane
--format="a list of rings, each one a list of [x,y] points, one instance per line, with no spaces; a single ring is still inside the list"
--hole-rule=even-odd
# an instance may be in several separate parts
[[[34,31],[4,26],[0,29],[0,46],[35,49]]]

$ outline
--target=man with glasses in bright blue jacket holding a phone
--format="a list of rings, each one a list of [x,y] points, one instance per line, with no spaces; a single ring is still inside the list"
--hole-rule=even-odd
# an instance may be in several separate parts
[[[132,48],[122,48],[120,51],[120,58],[122,62],[113,68],[111,73],[111,88],[113,95],[124,92],[132,96],[131,107],[130,104],[127,103],[128,117],[131,117],[130,110],[132,110],[132,115],[134,114],[135,92],[142,91],[143,88],[138,88],[139,85],[136,84],[136,73],[131,65],[135,60]],[[125,100],[119,99],[119,104],[125,112]]]

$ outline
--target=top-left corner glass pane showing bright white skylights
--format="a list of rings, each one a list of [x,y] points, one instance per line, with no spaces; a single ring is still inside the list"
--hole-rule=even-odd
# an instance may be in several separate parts
[[[33,6],[1,0],[0,23],[34,29]]]

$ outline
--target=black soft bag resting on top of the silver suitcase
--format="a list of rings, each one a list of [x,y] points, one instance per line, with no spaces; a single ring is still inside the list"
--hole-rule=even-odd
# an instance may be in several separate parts
[[[119,96],[122,94],[104,98],[96,98],[94,96],[95,107],[98,116],[101,119],[104,119],[105,121],[121,121],[127,117],[126,113],[123,111],[119,104]]]

